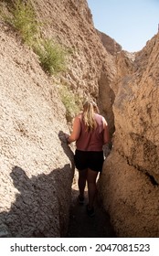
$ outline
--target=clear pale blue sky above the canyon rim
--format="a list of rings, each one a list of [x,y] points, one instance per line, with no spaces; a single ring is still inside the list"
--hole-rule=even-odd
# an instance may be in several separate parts
[[[159,0],[87,0],[94,27],[129,52],[141,50],[158,32]]]

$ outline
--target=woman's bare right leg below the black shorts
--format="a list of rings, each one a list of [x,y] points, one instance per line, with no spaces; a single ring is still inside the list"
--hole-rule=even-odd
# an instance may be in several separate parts
[[[94,199],[96,196],[96,192],[97,192],[96,178],[97,178],[97,176],[98,176],[98,172],[88,169],[87,182],[88,182],[88,192],[89,192],[89,208],[93,207]]]

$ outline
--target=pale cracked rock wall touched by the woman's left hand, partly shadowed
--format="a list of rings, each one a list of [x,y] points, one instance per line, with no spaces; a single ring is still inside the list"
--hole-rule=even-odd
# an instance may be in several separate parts
[[[0,235],[59,237],[68,225],[74,170],[60,140],[69,130],[65,108],[37,57],[4,24],[0,88]]]

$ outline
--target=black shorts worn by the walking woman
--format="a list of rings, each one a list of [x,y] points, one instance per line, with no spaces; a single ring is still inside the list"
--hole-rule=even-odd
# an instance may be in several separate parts
[[[74,161],[78,170],[90,168],[93,171],[101,172],[104,156],[102,151],[80,151],[77,149]]]

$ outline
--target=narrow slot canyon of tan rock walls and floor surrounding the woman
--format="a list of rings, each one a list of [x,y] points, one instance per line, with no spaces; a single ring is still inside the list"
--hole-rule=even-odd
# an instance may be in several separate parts
[[[18,1],[25,14],[27,2],[40,26],[32,46],[8,22],[16,1],[0,1],[0,238],[158,238],[159,31],[130,53],[94,27],[86,0]],[[58,73],[33,47],[48,39],[66,53]],[[86,99],[113,144],[92,218],[62,141]]]

